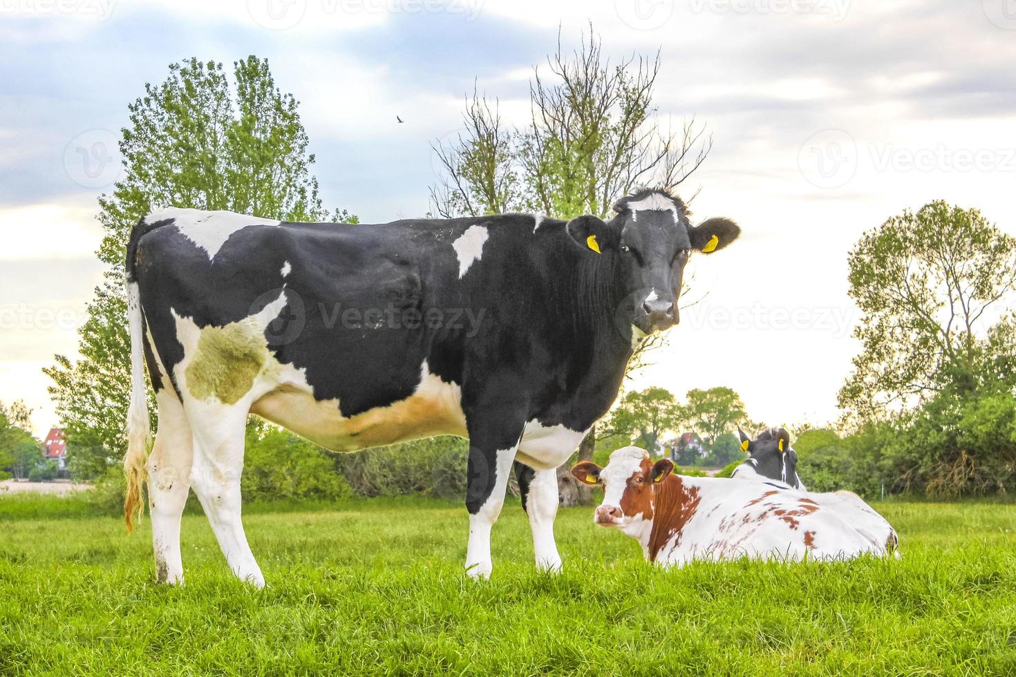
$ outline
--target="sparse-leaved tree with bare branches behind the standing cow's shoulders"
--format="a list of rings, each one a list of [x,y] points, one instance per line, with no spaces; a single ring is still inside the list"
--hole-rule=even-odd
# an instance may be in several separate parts
[[[463,132],[433,146],[444,171],[431,189],[434,208],[446,217],[522,210],[606,217],[639,186],[677,187],[712,141],[694,119],[680,132],[659,124],[659,65],[658,54],[612,63],[590,26],[573,52],[559,41],[549,74],[533,70],[527,125],[508,127],[497,99],[473,91]]]

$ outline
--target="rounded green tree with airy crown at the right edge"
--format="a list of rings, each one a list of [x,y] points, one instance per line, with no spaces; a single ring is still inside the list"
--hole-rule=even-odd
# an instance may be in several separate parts
[[[839,393],[853,422],[884,418],[945,390],[1016,386],[1016,238],[976,209],[944,201],[905,211],[849,255],[850,297],[864,313],[862,352]]]

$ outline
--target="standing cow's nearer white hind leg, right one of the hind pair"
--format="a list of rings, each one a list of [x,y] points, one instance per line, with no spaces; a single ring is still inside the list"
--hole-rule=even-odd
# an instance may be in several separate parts
[[[241,521],[240,475],[249,403],[201,407],[189,416],[194,436],[191,486],[237,578],[264,587],[264,577],[247,544]],[[188,411],[190,413],[190,411]]]

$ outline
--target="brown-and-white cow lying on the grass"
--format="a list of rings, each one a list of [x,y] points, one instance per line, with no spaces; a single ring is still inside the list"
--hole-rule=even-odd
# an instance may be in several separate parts
[[[606,468],[572,468],[580,482],[600,484],[604,502],[594,521],[642,545],[649,561],[681,566],[692,559],[848,559],[884,555],[878,542],[851,526],[853,503],[835,510],[805,491],[767,482],[672,474],[668,459],[653,463],[637,447],[611,455]]]

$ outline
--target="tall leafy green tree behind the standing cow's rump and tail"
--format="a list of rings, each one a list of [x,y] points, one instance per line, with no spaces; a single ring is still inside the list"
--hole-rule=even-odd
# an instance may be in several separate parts
[[[79,330],[80,357],[57,355],[44,369],[78,476],[101,474],[126,444],[130,347],[123,261],[140,216],[177,206],[355,222],[344,211],[326,209],[318,196],[298,107],[275,85],[267,60],[253,56],[234,63],[232,85],[221,64],[194,58],[172,64],[166,80],[145,84],[144,94],[128,106],[122,179],[99,198],[106,234],[98,256],[108,268]]]

